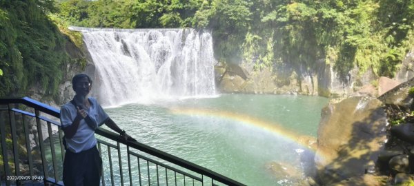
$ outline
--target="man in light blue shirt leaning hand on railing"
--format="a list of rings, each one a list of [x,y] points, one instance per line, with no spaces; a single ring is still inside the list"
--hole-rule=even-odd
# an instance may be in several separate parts
[[[76,95],[61,107],[61,127],[66,141],[63,163],[65,185],[99,185],[102,159],[97,149],[95,130],[103,123],[119,132],[125,140],[135,141],[109,118],[95,99],[88,98],[91,86],[88,75],[75,75],[72,87]]]

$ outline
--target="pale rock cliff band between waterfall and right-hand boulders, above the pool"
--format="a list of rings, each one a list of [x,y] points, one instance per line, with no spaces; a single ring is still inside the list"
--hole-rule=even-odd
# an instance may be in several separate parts
[[[218,87],[221,92],[238,92],[254,94],[305,94],[327,97],[344,96],[354,92],[355,85],[364,85],[373,81],[369,73],[358,77],[357,70],[350,72],[350,78],[346,81],[339,79],[333,67],[319,61],[316,70],[308,70],[304,67],[293,68],[287,65],[273,68],[273,71],[262,70],[254,72],[248,65],[240,65],[248,72],[246,78],[243,75],[228,70],[228,68],[216,68],[219,75]],[[233,65],[234,66],[234,65]],[[234,69],[234,68],[233,68]]]

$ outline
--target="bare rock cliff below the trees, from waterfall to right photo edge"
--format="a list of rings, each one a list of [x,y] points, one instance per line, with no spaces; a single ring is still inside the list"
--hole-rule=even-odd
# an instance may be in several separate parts
[[[355,67],[348,76],[340,78],[333,65],[325,61],[315,62],[315,68],[279,65],[273,70],[259,72],[253,66],[242,65],[217,66],[216,83],[224,93],[249,94],[305,94],[326,97],[378,96],[380,77],[368,69],[364,74]],[[402,67],[395,76],[395,82],[402,83],[414,77],[414,49],[406,55]],[[395,87],[393,85],[392,87]],[[390,88],[392,88],[390,87]]]

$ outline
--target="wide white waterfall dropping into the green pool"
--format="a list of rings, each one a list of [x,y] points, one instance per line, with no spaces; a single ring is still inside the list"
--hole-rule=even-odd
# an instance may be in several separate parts
[[[95,63],[93,96],[104,106],[215,94],[213,41],[193,29],[70,28]]]

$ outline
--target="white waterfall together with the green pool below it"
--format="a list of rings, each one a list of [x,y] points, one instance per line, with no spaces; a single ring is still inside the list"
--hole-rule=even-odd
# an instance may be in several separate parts
[[[316,136],[327,99],[217,94],[213,37],[203,30],[71,29],[82,32],[95,65],[92,96],[139,142],[246,185],[289,185],[269,169],[275,163],[302,179],[311,153],[297,138]]]

